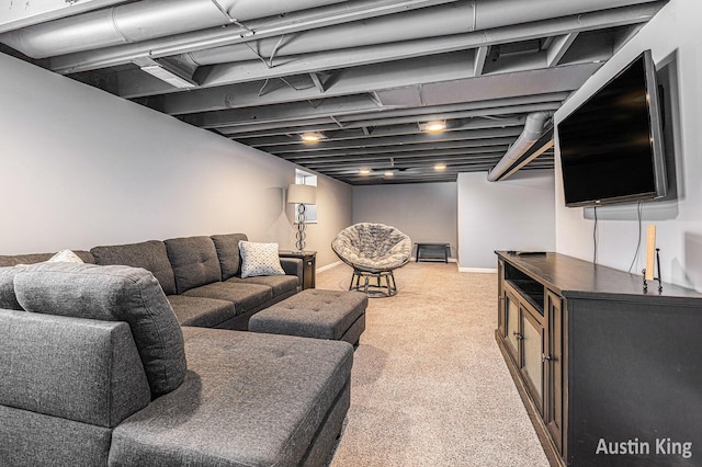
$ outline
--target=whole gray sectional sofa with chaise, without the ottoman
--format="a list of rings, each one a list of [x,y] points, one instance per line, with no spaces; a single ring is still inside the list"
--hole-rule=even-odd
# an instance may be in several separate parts
[[[298,287],[240,278],[236,237],[0,258],[0,465],[324,465],[353,346],[213,329]]]

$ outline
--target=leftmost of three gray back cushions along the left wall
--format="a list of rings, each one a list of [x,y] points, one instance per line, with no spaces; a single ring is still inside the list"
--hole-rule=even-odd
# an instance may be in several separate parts
[[[95,264],[144,267],[154,274],[166,295],[176,293],[176,276],[168,260],[166,243],[162,241],[148,240],[140,243],[95,247],[90,252],[95,259]]]

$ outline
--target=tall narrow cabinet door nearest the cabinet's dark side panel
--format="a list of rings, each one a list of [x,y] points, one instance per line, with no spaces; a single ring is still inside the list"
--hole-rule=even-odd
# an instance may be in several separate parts
[[[546,293],[548,331],[544,362],[546,366],[546,403],[544,422],[559,452],[563,452],[563,304],[562,298]]]

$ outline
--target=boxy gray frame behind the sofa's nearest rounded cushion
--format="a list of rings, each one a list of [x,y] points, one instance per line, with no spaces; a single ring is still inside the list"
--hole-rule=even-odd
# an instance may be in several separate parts
[[[113,428],[150,390],[129,324],[0,309],[0,405]]]

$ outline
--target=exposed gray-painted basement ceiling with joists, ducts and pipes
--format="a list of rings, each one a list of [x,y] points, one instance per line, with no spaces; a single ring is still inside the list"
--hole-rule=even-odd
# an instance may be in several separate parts
[[[34,0],[0,11],[0,52],[351,184],[455,181],[665,3]],[[522,170],[553,168],[548,129]]]

